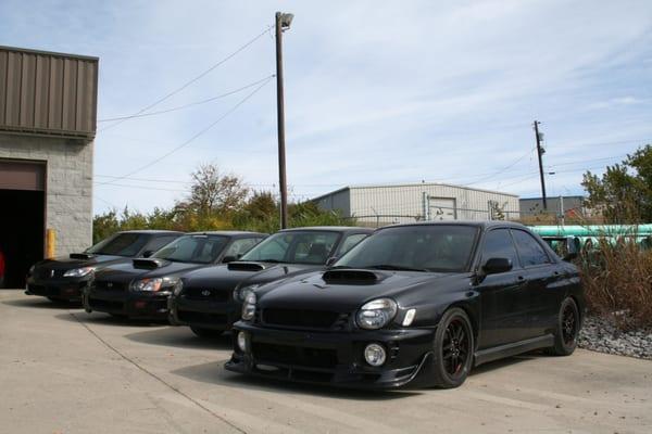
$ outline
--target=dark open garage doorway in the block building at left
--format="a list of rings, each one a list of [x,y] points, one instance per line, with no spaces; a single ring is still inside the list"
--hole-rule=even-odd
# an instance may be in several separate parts
[[[0,161],[0,251],[4,288],[24,288],[29,267],[43,258],[46,165]]]

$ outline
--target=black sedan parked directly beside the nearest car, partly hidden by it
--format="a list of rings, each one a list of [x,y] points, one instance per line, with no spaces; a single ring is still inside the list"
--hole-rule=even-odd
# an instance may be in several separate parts
[[[286,229],[227,266],[186,273],[170,298],[170,322],[189,326],[211,337],[240,318],[241,294],[277,279],[323,269],[372,233],[367,228],[312,227]]]

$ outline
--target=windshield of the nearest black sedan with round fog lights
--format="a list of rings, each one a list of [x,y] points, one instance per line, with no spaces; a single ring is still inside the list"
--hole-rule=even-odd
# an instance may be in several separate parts
[[[402,226],[379,230],[334,268],[459,272],[468,269],[478,229],[462,225]]]

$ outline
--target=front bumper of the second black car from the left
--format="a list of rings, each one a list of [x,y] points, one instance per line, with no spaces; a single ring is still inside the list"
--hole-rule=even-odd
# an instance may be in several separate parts
[[[166,320],[170,292],[98,291],[84,294],[86,311],[101,311],[137,319]]]

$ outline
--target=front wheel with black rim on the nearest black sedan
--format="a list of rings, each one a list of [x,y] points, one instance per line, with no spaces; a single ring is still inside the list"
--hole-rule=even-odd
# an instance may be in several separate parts
[[[468,315],[459,307],[447,310],[435,332],[434,385],[439,388],[461,386],[471,372],[474,348]]]

